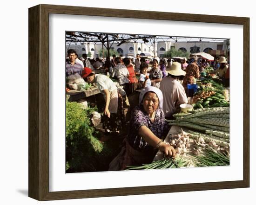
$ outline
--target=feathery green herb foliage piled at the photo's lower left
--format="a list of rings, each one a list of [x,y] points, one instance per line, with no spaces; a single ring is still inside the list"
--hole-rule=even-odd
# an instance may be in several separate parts
[[[89,120],[95,110],[83,109],[77,102],[66,102],[66,169],[73,172],[95,171],[94,157],[103,150]]]

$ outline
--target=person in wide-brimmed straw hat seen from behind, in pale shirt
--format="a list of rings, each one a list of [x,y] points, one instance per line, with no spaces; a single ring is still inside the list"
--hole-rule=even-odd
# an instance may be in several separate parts
[[[188,103],[186,92],[178,81],[180,76],[186,75],[186,72],[178,62],[174,62],[166,72],[168,76],[162,79],[160,90],[163,94],[164,115],[167,119],[172,119],[172,115],[180,111],[180,104]]]

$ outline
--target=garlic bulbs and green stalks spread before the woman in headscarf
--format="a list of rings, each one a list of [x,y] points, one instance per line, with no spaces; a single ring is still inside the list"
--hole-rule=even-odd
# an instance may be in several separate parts
[[[200,133],[182,130],[182,133],[178,135],[170,135],[168,143],[176,150],[175,158],[163,157],[150,164],[129,166],[126,170],[229,165],[228,142],[221,143],[219,140],[205,137]]]

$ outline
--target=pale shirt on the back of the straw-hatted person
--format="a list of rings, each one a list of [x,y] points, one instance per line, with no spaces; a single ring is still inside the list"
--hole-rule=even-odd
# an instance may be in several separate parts
[[[166,117],[173,115],[180,104],[188,103],[184,87],[172,77],[162,79],[160,90],[163,95],[163,112]]]

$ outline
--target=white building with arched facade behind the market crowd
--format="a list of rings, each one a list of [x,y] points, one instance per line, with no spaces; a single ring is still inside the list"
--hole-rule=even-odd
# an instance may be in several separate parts
[[[145,43],[138,42],[129,42],[121,44],[111,45],[111,49],[117,51],[119,55],[122,56],[133,56],[136,54],[141,54],[141,56],[147,57],[160,57],[162,58],[166,51],[169,51],[171,48],[175,48],[176,50],[181,50],[189,53],[196,52],[207,52],[213,56],[224,55],[224,53],[229,52],[229,46],[227,45],[227,41],[223,42],[168,42],[168,41],[158,41],[154,45],[149,45]],[[94,44],[94,43],[84,43],[82,45],[67,45],[66,46],[66,54],[68,49],[74,49],[78,56],[81,57],[83,53],[91,52],[91,58],[99,57],[99,51],[102,49],[102,44]],[[106,49],[104,47],[104,49]]]

